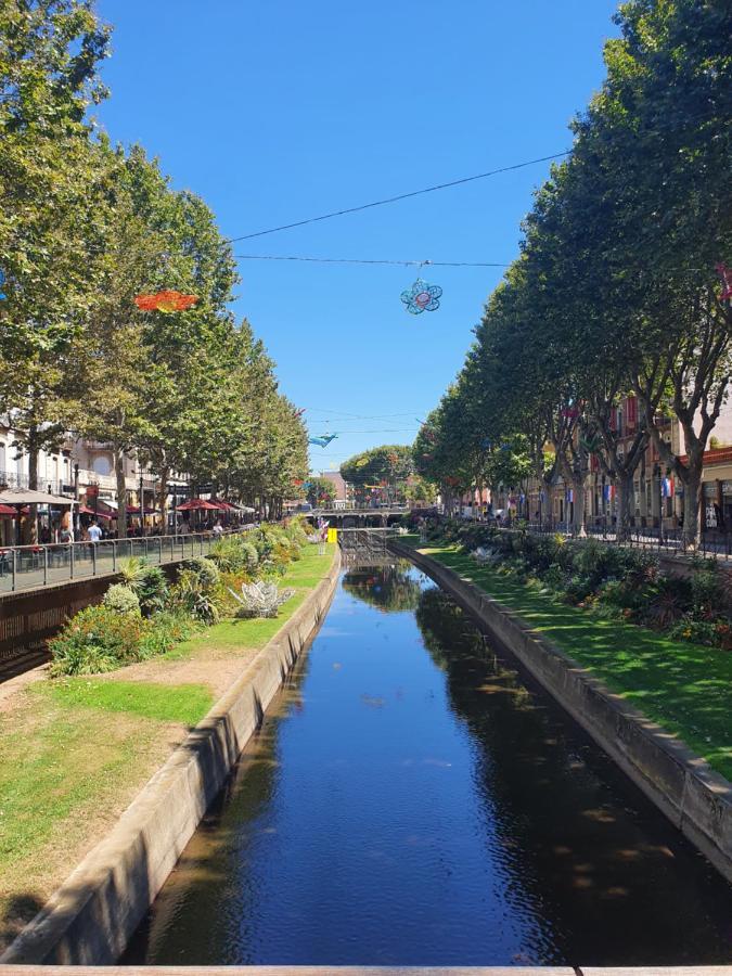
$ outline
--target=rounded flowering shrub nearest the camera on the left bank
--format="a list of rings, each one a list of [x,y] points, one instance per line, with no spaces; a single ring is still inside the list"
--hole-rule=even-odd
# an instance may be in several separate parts
[[[139,614],[88,606],[49,641],[52,675],[94,675],[140,659],[147,624]]]

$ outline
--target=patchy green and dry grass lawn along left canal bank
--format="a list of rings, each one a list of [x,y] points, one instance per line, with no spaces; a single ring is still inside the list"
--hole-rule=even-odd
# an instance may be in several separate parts
[[[274,619],[223,620],[169,655],[251,656],[272,638],[330,568],[335,547],[314,545],[291,563],[281,585],[296,588]],[[245,652],[248,652],[246,654]],[[214,704],[203,683],[136,680],[125,671],[46,680],[17,693],[0,715],[0,946],[7,943],[108,830],[172,746]],[[119,676],[119,677],[117,677]],[[142,680],[140,680],[142,678]]]

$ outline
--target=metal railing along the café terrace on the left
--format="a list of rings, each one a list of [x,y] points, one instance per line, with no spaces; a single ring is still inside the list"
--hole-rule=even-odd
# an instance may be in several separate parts
[[[256,527],[243,525],[235,531]],[[209,553],[218,538],[220,535],[215,532],[189,532],[0,548],[0,595],[115,574],[120,562],[130,556],[144,558],[155,566],[190,560]]]

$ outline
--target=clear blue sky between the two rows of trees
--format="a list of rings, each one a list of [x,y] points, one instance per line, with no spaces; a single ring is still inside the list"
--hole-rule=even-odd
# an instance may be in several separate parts
[[[141,142],[239,236],[562,152],[603,77],[615,0],[99,0],[112,138]],[[235,246],[240,255],[511,261],[548,164]],[[278,364],[317,468],[409,444],[500,269],[242,260],[235,311]]]

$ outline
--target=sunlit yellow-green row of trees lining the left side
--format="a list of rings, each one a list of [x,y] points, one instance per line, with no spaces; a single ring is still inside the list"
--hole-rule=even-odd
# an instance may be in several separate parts
[[[89,0],[0,5],[0,422],[37,487],[65,432],[108,444],[126,530],[124,455],[244,500],[288,497],[307,436],[273,364],[228,310],[231,247],[208,207],[158,164],[95,131],[108,28]],[[134,296],[197,296],[142,312]]]

